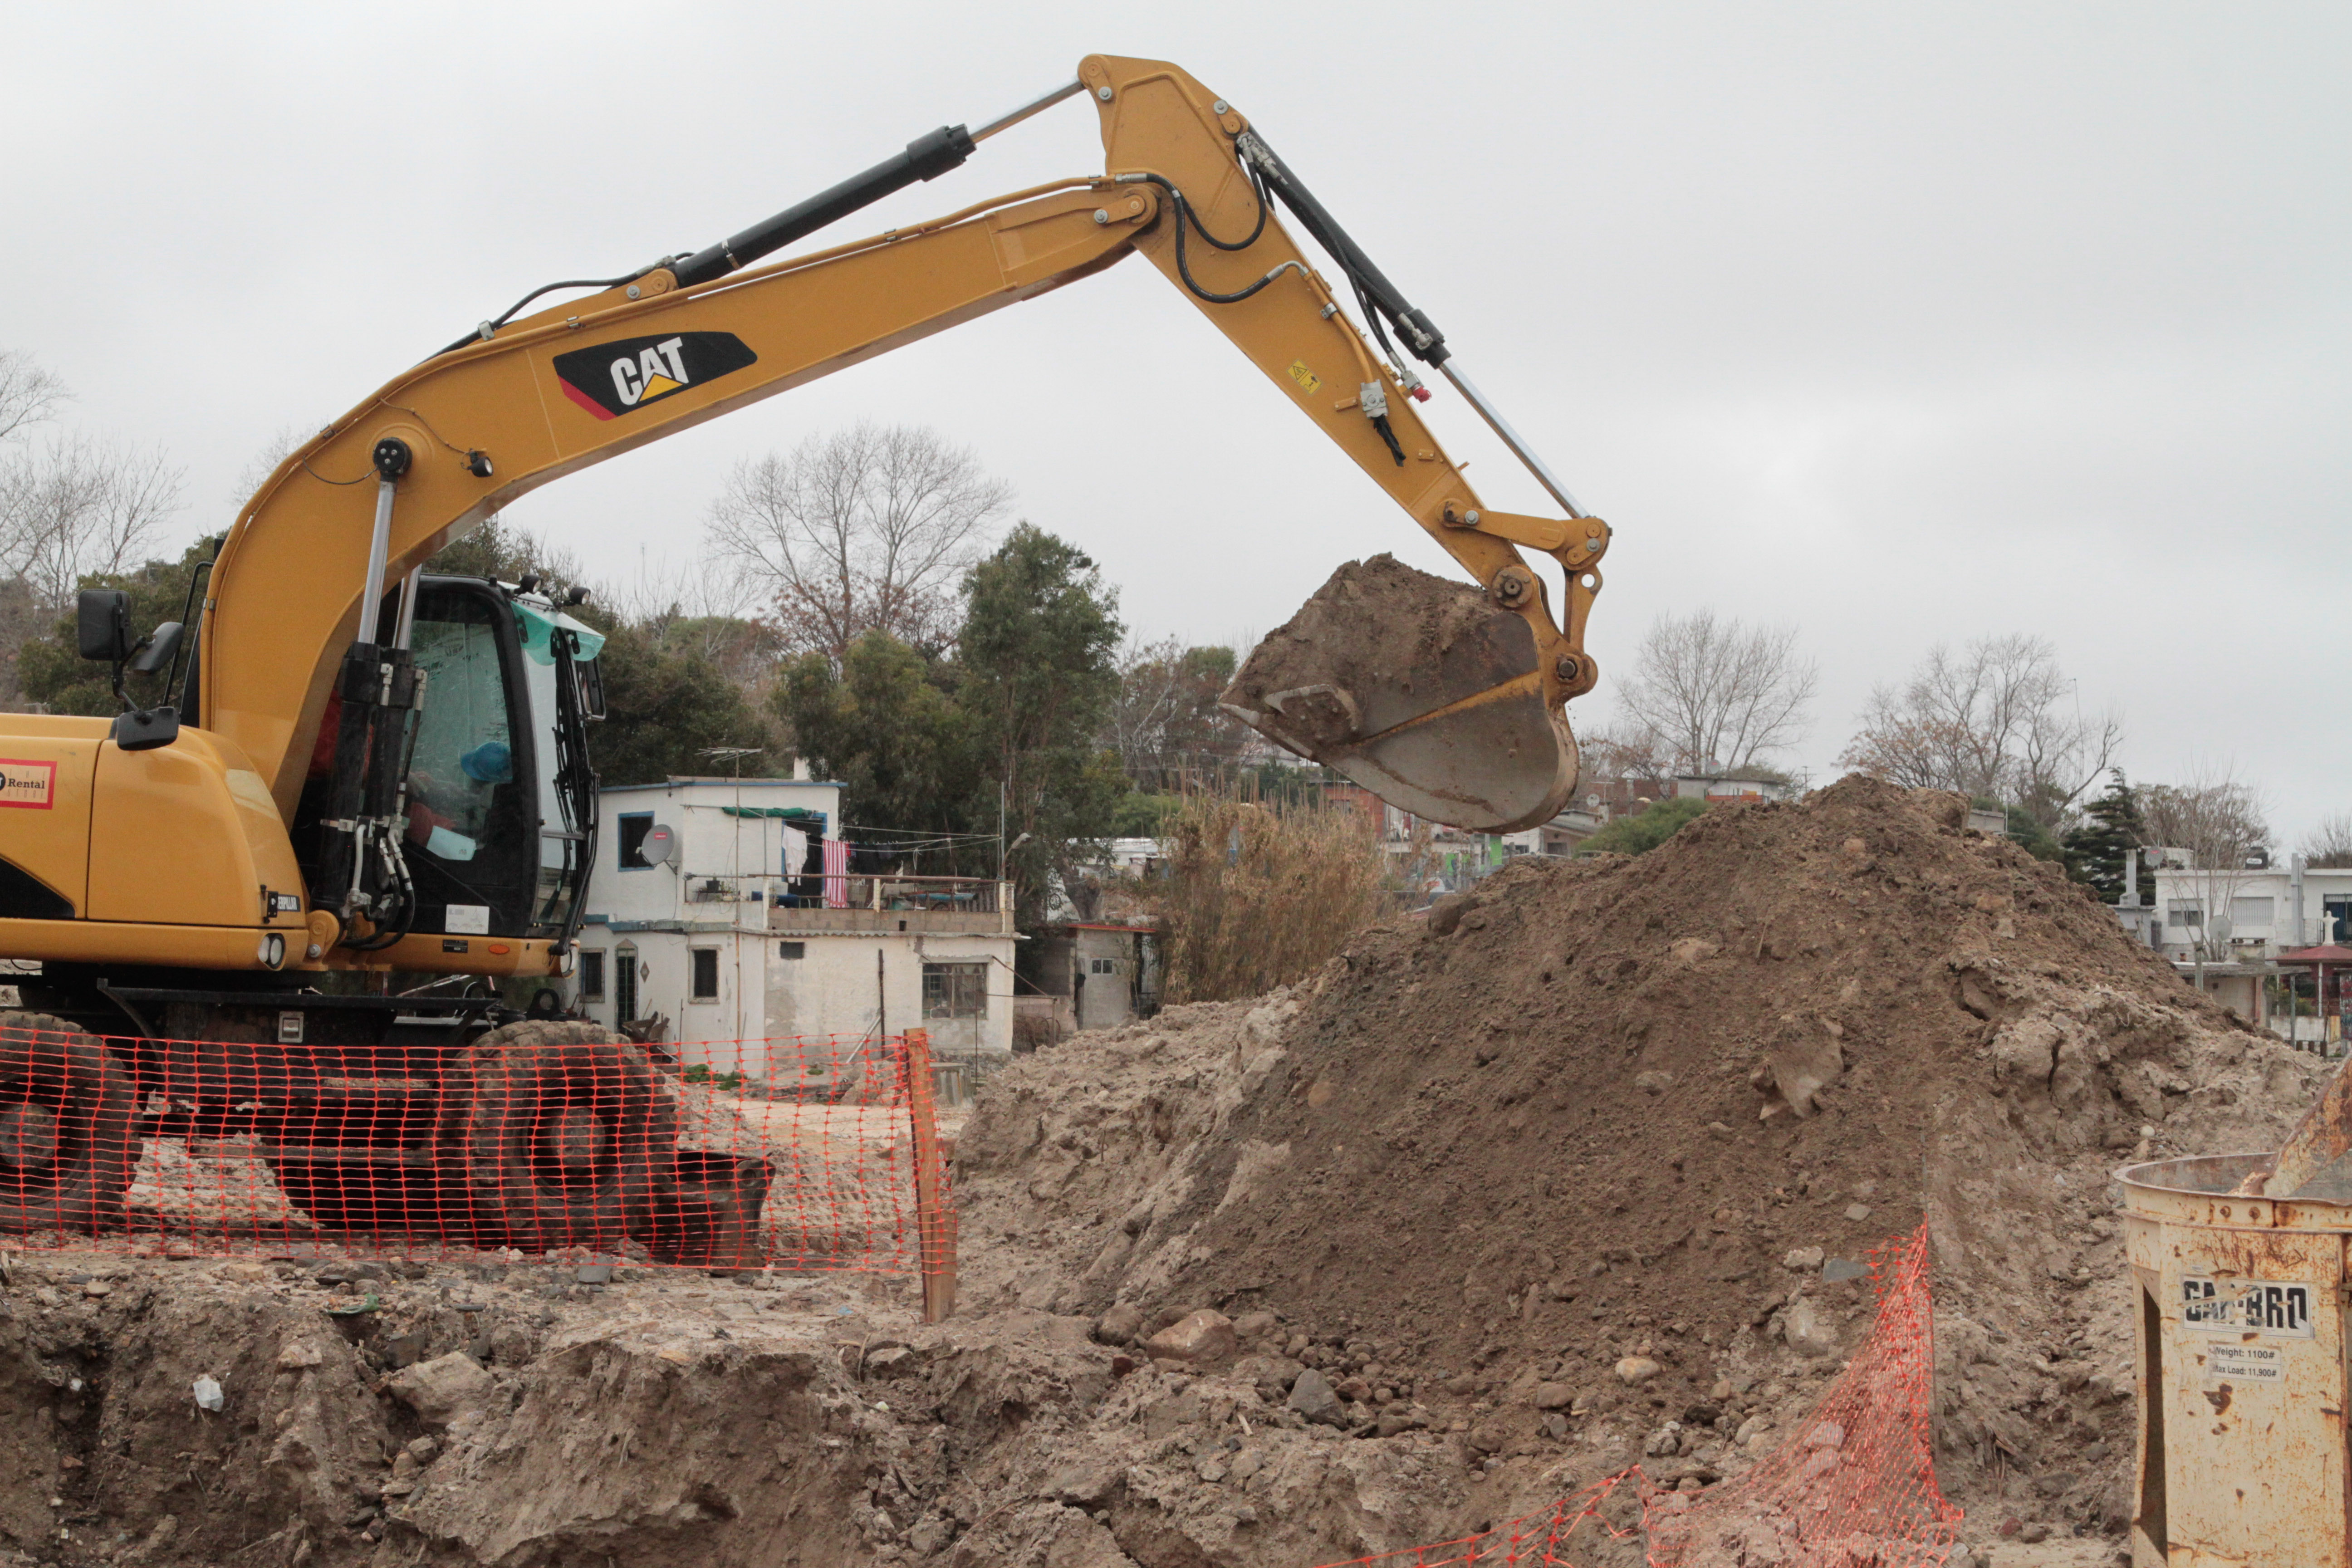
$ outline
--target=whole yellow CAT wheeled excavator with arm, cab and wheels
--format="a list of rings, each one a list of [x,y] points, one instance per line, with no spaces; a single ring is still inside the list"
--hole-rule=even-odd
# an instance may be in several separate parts
[[[1101,115],[1103,174],[760,266],[1073,96]],[[160,675],[165,698],[0,715],[0,957],[26,1006],[0,1016],[0,1229],[120,1222],[139,1140],[179,1135],[254,1140],[322,1227],[659,1232],[675,1128],[640,1046],[485,997],[325,985],[572,964],[600,639],[529,578],[421,562],[550,480],[1129,254],[1472,578],[1341,569],[1225,705],[1439,823],[1557,813],[1609,529],[1232,103],[1176,66],[1091,54],[1009,115],[920,136],[720,244],[485,320],[287,456],[181,623],[141,632],[122,592],[82,592],[82,656],[118,693],[125,668]],[[1421,418],[1416,364],[1562,515],[1477,498]],[[1557,611],[1522,548],[1559,564]]]

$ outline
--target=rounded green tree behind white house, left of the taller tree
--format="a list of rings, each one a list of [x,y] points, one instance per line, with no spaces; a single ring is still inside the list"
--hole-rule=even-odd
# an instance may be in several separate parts
[[[842,813],[873,827],[995,830],[974,795],[971,717],[936,668],[889,632],[849,644],[840,670],[800,654],[776,677],[774,712],[826,778],[842,780]],[[985,820],[981,820],[985,816]]]

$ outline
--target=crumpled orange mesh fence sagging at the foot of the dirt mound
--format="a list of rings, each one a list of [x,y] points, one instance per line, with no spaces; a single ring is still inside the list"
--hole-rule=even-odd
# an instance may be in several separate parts
[[[1936,1486],[1931,1453],[1926,1225],[1872,1251],[1870,1276],[1879,1293],[1870,1340],[1745,1474],[1684,1493],[1651,1486],[1635,1465],[1477,1535],[1322,1568],[1576,1568],[1569,1552],[1630,1535],[1602,1516],[1628,1483],[1642,1495],[1651,1568],[1940,1568],[1962,1512]]]

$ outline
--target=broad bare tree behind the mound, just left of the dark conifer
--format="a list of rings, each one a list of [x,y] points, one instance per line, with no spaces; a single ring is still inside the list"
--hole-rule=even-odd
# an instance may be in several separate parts
[[[1959,790],[2058,827],[2124,741],[2114,715],[2082,715],[2044,637],[1945,644],[1900,686],[1877,686],[1839,766],[1891,783]]]

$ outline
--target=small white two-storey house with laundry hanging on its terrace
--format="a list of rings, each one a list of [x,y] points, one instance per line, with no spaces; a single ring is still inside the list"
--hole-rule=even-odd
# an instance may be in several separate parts
[[[1009,891],[854,872],[840,797],[800,778],[602,790],[581,1009],[614,1030],[659,1020],[682,1063],[750,1079],[760,1041],[790,1037],[920,1027],[946,1060],[1011,1056]]]

